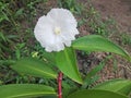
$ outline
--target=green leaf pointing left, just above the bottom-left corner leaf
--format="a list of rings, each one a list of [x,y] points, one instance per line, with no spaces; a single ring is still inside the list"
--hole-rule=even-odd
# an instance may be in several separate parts
[[[25,58],[16,61],[11,66],[19,73],[33,75],[37,77],[57,78],[57,72],[49,68],[49,65],[40,60],[34,58]]]

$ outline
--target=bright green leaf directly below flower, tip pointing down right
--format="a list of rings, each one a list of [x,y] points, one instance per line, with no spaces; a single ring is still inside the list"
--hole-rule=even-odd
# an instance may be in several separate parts
[[[76,57],[72,48],[56,52],[56,63],[59,70],[71,79],[82,84],[81,74],[76,65]]]

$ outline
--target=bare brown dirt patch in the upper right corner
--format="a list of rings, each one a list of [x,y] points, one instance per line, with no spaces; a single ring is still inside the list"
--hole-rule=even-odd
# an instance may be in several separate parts
[[[115,19],[121,33],[131,35],[131,0],[91,0],[103,19]]]

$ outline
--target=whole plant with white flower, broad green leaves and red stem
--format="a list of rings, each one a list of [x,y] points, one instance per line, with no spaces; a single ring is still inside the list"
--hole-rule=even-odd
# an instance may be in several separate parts
[[[79,34],[76,26],[76,20],[67,9],[51,9],[47,15],[39,17],[34,35],[46,51],[45,60],[28,57],[17,60],[11,68],[25,75],[56,79],[58,87],[43,84],[2,85],[0,98],[128,98],[131,91],[129,79],[111,79],[87,88],[92,77],[104,65],[100,63],[86,76],[82,75],[75,50],[112,52],[128,61],[131,61],[131,57],[121,47],[99,35],[75,38]],[[74,82],[75,87],[66,84],[63,76]]]

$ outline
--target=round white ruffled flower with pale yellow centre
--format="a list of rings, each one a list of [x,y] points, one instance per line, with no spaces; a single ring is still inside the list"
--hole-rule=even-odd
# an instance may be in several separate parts
[[[52,9],[47,15],[39,17],[34,34],[46,51],[60,51],[70,47],[79,34],[76,20],[66,9]]]

